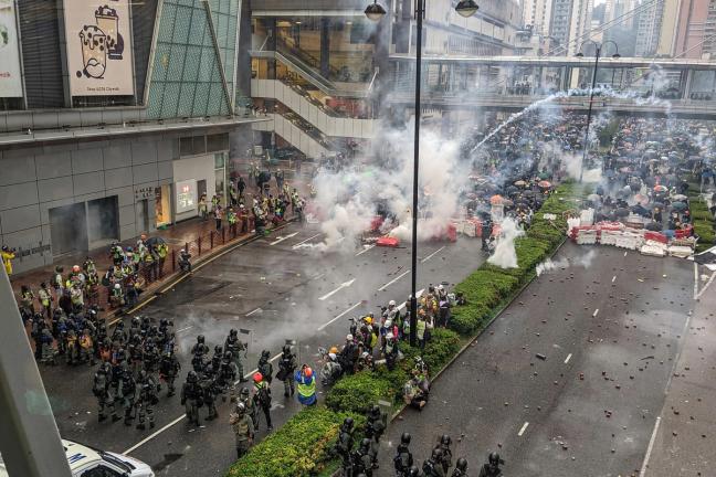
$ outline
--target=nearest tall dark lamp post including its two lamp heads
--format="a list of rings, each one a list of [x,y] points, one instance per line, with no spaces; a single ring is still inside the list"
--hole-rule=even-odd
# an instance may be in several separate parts
[[[460,0],[455,11],[464,18],[477,12],[475,0]],[[366,8],[366,17],[373,22],[379,22],[386,15],[386,9],[373,0]],[[415,329],[418,328],[418,169],[420,166],[420,83],[422,73],[422,22],[425,15],[425,0],[415,0],[415,136],[413,156],[413,206],[412,206],[412,261],[410,268],[410,346],[417,344]]]

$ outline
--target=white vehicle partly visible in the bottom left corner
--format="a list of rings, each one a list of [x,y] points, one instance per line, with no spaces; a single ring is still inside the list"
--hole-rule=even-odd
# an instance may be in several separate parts
[[[155,477],[151,468],[122,454],[62,439],[72,477]],[[9,477],[0,456],[0,477]]]

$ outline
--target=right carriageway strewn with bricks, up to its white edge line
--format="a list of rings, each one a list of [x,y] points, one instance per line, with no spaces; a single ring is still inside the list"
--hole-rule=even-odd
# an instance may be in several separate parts
[[[573,264],[587,252],[568,243],[555,261]],[[421,464],[443,433],[460,438],[454,454],[473,474],[495,449],[507,476],[640,469],[693,307],[693,266],[611,247],[596,253],[588,269],[535,280],[439,378],[423,412],[393,423],[381,470],[403,431],[415,436]]]

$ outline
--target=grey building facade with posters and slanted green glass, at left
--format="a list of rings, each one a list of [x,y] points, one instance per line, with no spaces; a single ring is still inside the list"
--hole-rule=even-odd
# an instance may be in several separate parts
[[[18,272],[197,215],[249,135],[241,0],[11,1],[0,241]]]

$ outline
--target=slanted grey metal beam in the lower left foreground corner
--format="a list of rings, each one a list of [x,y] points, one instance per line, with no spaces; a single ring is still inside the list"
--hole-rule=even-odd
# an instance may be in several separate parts
[[[7,471],[23,477],[71,477],[4,267],[0,269],[0,452]]]

